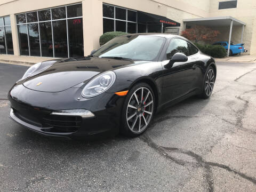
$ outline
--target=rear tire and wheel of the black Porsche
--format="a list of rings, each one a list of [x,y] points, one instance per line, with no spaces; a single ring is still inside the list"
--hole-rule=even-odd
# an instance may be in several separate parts
[[[210,79],[210,81],[209,81]],[[204,82],[203,82],[203,92],[199,95],[203,99],[207,99],[211,96],[215,83],[215,73],[212,67],[206,70]]]

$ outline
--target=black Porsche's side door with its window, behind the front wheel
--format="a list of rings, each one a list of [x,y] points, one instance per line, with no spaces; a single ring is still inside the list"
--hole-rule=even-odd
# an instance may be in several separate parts
[[[167,63],[169,63],[172,56],[177,52],[186,54],[188,56],[188,61],[175,62],[172,67],[167,67]],[[172,39],[167,47],[164,61],[162,61],[163,103],[180,98],[193,89],[195,64],[195,59],[189,56],[188,42],[181,38]]]

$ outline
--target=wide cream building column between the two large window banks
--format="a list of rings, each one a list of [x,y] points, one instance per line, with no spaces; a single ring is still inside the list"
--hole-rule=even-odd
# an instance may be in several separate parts
[[[103,34],[103,12],[101,0],[84,0],[83,6],[83,36],[84,55],[100,46],[100,36]]]

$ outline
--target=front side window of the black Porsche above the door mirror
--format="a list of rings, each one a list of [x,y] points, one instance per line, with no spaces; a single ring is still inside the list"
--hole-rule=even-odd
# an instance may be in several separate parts
[[[189,55],[188,43],[183,39],[179,39],[179,38],[172,39],[166,51],[166,60],[172,59],[172,56],[175,53],[184,53],[185,55],[188,56]]]

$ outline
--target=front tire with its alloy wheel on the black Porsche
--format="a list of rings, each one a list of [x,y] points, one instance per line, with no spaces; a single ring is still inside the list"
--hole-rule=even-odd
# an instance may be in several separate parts
[[[147,83],[134,85],[124,101],[120,125],[121,134],[137,137],[145,132],[152,122],[154,110],[155,95],[151,87]]]

